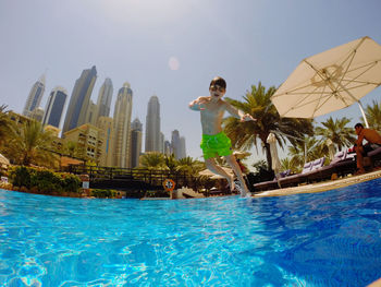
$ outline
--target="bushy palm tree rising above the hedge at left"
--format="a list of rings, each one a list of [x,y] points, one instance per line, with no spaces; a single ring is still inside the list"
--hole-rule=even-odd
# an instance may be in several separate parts
[[[30,120],[19,129],[12,129],[12,135],[7,143],[5,153],[16,164],[28,166],[54,167],[58,156],[51,153],[51,143],[54,136],[50,131],[44,131],[40,122]]]

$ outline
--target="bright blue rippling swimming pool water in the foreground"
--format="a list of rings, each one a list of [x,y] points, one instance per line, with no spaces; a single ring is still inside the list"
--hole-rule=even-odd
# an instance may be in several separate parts
[[[262,199],[0,190],[1,286],[365,286],[379,277],[380,179]]]

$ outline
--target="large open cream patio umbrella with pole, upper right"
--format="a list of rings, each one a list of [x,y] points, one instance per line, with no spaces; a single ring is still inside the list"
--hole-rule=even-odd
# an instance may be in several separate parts
[[[358,103],[381,84],[381,46],[369,37],[304,59],[272,95],[281,117],[316,118]]]

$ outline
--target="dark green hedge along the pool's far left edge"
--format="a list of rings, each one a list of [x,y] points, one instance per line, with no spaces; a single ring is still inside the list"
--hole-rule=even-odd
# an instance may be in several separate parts
[[[81,191],[79,178],[66,172],[16,166],[9,171],[9,178],[14,187],[25,187],[28,190],[37,189],[41,193],[78,193]]]

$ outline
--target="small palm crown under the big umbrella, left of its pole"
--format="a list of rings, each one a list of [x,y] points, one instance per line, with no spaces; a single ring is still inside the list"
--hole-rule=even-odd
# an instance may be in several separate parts
[[[337,147],[337,151],[341,151],[345,146],[351,146],[355,142],[355,133],[353,128],[346,127],[351,122],[351,119],[342,118],[333,120],[330,117],[327,121],[321,122],[323,127],[317,127],[315,129],[315,134],[320,135],[320,144],[324,151],[328,150],[327,142],[328,140]]]

